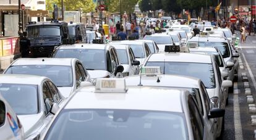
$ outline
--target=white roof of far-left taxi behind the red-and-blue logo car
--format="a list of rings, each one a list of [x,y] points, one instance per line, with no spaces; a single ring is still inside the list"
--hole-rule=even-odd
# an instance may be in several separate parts
[[[19,74],[0,75],[0,83],[40,85],[41,81],[45,79],[48,79],[48,78],[46,78],[45,76],[37,76],[37,75],[19,75]]]

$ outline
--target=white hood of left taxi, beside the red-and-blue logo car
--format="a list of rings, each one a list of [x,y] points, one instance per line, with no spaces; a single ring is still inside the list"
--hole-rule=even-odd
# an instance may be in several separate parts
[[[18,118],[24,129],[24,138],[28,138],[28,136],[43,126],[45,114],[41,112],[33,115],[18,115]]]

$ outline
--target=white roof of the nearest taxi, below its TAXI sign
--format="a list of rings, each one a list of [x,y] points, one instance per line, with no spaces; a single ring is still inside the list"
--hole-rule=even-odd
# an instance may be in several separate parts
[[[127,93],[94,93],[94,91],[94,86],[78,89],[64,109],[129,109],[183,112],[181,96],[182,93],[186,93],[182,89],[148,86],[129,86]]]

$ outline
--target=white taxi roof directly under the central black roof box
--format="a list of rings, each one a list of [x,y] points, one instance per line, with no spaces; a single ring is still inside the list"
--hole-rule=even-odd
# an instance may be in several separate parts
[[[211,64],[211,57],[206,54],[193,54],[187,52],[168,53],[161,52],[157,54],[151,54],[148,62],[194,62]]]

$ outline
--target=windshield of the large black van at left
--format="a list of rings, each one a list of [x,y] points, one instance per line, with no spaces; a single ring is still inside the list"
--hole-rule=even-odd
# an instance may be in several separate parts
[[[59,26],[45,25],[28,27],[28,38],[36,38],[40,36],[60,36],[61,30]]]

